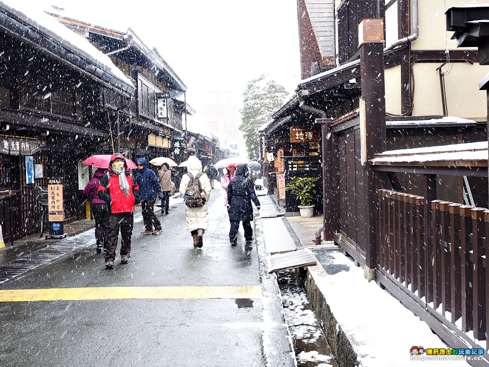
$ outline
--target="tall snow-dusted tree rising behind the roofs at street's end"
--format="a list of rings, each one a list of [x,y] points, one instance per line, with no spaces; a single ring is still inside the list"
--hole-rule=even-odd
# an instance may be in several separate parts
[[[248,82],[243,92],[244,107],[240,110],[240,130],[244,133],[246,151],[250,160],[259,159],[257,129],[270,121],[271,115],[284,104],[287,95],[284,87],[267,78],[266,75]]]

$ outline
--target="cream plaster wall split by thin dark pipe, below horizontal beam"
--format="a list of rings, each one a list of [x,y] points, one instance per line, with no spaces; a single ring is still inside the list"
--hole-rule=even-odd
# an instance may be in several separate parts
[[[414,64],[414,116],[443,115],[439,63]],[[445,73],[448,67],[442,69]],[[486,118],[486,91],[479,91],[479,82],[489,66],[453,63],[445,75],[447,114],[466,118]],[[389,111],[390,112],[390,111]]]

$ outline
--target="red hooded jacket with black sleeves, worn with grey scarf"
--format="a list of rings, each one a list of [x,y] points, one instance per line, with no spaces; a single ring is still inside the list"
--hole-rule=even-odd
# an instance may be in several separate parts
[[[122,158],[124,160],[124,173],[121,173],[121,175],[126,175],[129,184],[129,196],[124,195],[119,184],[119,175],[112,169],[112,163],[116,158]],[[109,204],[112,214],[133,212],[134,204],[139,204],[141,199],[137,181],[129,171],[126,159],[122,154],[115,153],[111,157],[109,167],[109,172],[100,178],[98,197]]]

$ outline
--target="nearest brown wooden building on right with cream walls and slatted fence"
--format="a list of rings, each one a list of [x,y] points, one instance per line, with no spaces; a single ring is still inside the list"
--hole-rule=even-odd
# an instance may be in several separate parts
[[[324,238],[450,346],[482,348],[471,364],[488,366],[488,7],[457,1],[445,24],[442,0],[319,2],[337,14],[335,66],[303,63],[272,124],[305,105],[304,124],[321,125]],[[311,29],[314,3],[299,14]]]

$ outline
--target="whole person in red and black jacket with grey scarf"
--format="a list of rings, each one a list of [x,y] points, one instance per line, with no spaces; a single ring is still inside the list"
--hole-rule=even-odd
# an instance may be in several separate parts
[[[134,205],[141,202],[137,181],[128,169],[126,159],[120,153],[111,157],[109,172],[100,178],[98,197],[109,205],[109,233],[105,268],[113,269],[119,229],[121,232],[121,264],[127,264],[131,256],[131,236],[134,224]]]

